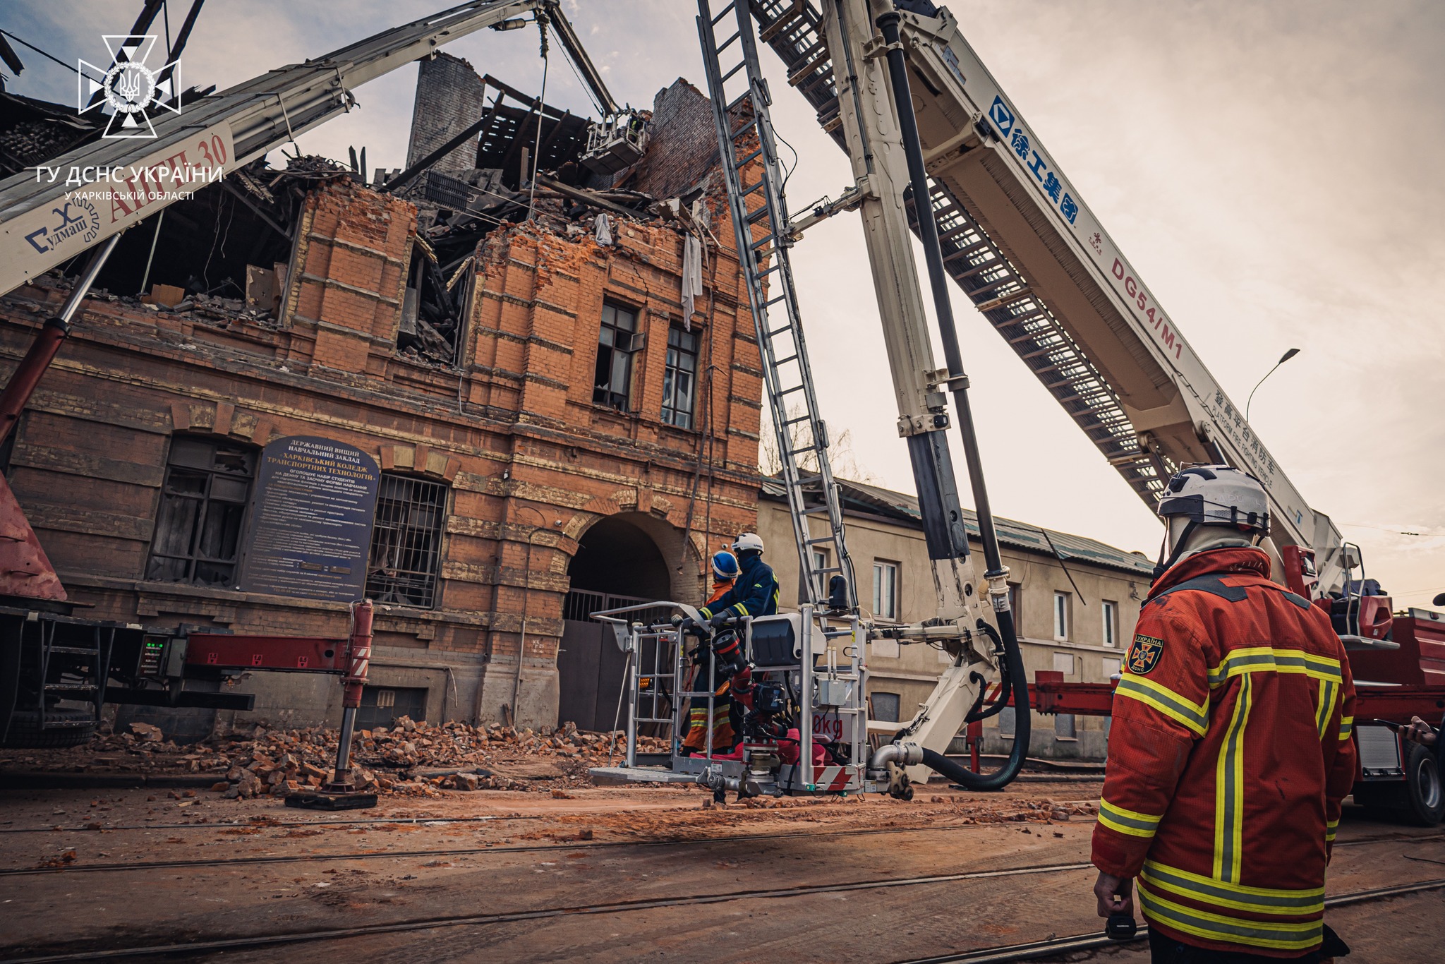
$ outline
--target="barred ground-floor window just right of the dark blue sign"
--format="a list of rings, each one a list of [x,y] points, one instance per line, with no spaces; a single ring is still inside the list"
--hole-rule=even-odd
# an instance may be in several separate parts
[[[366,594],[377,603],[431,608],[436,604],[447,486],[381,473],[371,529]]]

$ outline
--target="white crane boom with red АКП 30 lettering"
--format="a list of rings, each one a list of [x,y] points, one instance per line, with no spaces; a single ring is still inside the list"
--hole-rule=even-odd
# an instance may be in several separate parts
[[[616,108],[558,0],[473,0],[199,98],[156,123],[155,139],[101,139],[77,147],[51,166],[65,173],[66,184],[46,181],[39,169],[0,182],[0,293],[350,110],[355,87],[525,13],[548,16],[566,52],[579,58],[592,92]],[[103,184],[113,197],[77,201],[72,171],[118,171],[120,176],[79,185]]]

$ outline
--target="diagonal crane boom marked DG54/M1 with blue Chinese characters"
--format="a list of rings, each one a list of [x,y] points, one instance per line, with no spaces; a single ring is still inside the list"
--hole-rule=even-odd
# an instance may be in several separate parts
[[[827,12],[841,0],[822,3]],[[847,149],[825,14],[809,0],[753,6],[789,82]],[[1319,587],[1332,588],[1344,561],[1338,529],[1289,481],[958,20],[926,0],[899,7],[929,199],[955,283],[1150,509],[1182,464],[1244,468],[1269,493],[1274,541],[1314,549]],[[881,48],[874,38],[864,56]]]

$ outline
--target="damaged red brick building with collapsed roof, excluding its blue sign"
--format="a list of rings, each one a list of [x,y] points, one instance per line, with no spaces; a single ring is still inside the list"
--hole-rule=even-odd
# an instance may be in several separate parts
[[[679,79],[621,132],[642,159],[597,171],[587,119],[457,58],[423,62],[416,103],[409,163],[484,124],[405,184],[293,158],[130,231],[0,460],[90,616],[344,634],[345,603],[240,572],[263,447],[355,447],[380,468],[363,723],[610,726],[620,655],[585,613],[696,598],[757,520],[762,371],[711,106]],[[65,291],[0,301],[7,364]],[[256,710],[223,727],[340,707],[329,676],[234,685]]]

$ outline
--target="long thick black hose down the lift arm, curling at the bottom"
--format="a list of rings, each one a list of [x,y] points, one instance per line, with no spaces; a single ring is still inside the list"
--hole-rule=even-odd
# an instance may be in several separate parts
[[[974,510],[978,515],[978,541],[983,543],[985,578],[998,578],[1006,569],[998,552],[998,532],[994,529],[993,510],[988,504],[988,489],[984,486],[983,460],[978,455],[978,436],[974,432],[974,415],[968,406],[968,382],[964,377],[964,356],[958,347],[958,330],[954,324],[954,305],[948,299],[948,276],[944,272],[944,253],[938,243],[938,223],[928,189],[928,169],[923,166],[923,143],[918,136],[918,119],[913,116],[913,92],[909,88],[907,65],[903,62],[903,46],[899,43],[899,22],[902,14],[890,10],[877,19],[887,43],[889,81],[893,87],[893,103],[897,107],[899,134],[903,137],[903,156],[907,159],[909,182],[913,188],[913,211],[918,215],[919,240],[923,243],[923,260],[928,264],[929,286],[933,292],[933,309],[944,344],[944,360],[948,363],[949,390],[958,410],[958,429],[964,441],[964,461],[968,465],[968,484],[974,496]],[[941,753],[923,750],[923,763],[931,769],[975,791],[1003,789],[1019,775],[1029,752],[1030,707],[1029,684],[1025,679],[1023,655],[1019,652],[1019,634],[1013,624],[1009,597],[993,600],[998,634],[1003,639],[1004,665],[1009,682],[1013,684],[1014,737],[1013,750],[1001,769],[981,776],[964,769]],[[980,620],[980,626],[985,626]],[[1001,707],[1000,707],[1001,708]]]

